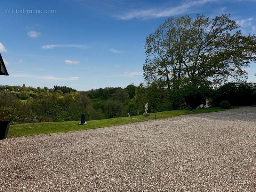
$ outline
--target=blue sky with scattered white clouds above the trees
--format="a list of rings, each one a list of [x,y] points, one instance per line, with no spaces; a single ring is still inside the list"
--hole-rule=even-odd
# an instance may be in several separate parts
[[[231,13],[248,35],[256,33],[255,8],[252,0],[4,1],[0,52],[10,76],[1,76],[0,84],[78,90],[138,85],[146,37],[169,16]],[[256,81],[254,63],[247,71]]]

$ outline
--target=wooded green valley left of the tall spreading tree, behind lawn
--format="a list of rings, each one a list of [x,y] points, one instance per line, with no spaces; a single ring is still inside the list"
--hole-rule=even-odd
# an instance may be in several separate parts
[[[127,116],[124,102],[134,96],[135,88],[130,84],[124,89],[106,87],[84,92],[58,85],[43,89],[0,85],[0,105],[17,110],[15,123],[78,121],[81,113],[87,120],[113,118]],[[93,102],[94,95],[100,100]]]

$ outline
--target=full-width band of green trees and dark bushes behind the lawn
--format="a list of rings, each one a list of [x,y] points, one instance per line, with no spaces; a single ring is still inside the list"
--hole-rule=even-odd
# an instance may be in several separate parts
[[[5,89],[8,86],[3,86]],[[108,90],[107,88],[106,90]],[[50,90],[50,91],[49,91]],[[104,89],[103,89],[104,90]],[[168,91],[161,93],[156,87],[141,83],[116,90],[108,98],[91,99],[88,92],[61,93],[54,89],[44,90],[40,93],[28,94],[23,100],[23,92],[0,91],[0,106],[16,109],[17,116],[13,123],[79,121],[81,113],[86,114],[86,120],[114,118],[120,116],[136,116],[145,110],[145,103],[149,103],[148,111],[169,111],[188,108],[188,100],[197,105],[205,104],[209,100],[211,106],[219,106],[223,100],[228,100],[233,106],[251,106],[256,104],[256,83],[229,82],[217,89],[207,88],[198,94],[198,90],[190,88],[181,89],[179,102],[174,106],[168,98]],[[129,91],[128,91],[129,90]],[[95,92],[95,90],[93,90]],[[130,94],[129,94],[130,93]],[[166,96],[166,95],[167,96]],[[104,93],[102,93],[104,95]],[[98,95],[100,96],[100,95]],[[207,96],[207,97],[206,97]],[[205,100],[203,100],[205,99]]]

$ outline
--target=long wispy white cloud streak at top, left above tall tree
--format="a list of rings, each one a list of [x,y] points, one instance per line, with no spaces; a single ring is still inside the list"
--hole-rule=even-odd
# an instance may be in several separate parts
[[[179,15],[183,13],[189,13],[194,7],[198,7],[200,5],[206,4],[208,2],[215,2],[218,0],[198,0],[198,1],[187,1],[183,4],[180,4],[176,7],[168,7],[168,8],[158,8],[158,9],[147,9],[147,10],[134,10],[132,12],[128,12],[124,15],[118,15],[117,18],[121,20],[130,20],[133,18],[159,18],[159,17],[169,17],[172,15]]]

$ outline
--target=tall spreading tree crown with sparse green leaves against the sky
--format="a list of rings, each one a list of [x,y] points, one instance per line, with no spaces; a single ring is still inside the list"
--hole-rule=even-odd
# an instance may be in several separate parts
[[[198,87],[246,78],[244,68],[256,60],[256,36],[242,36],[229,17],[167,19],[147,37],[145,79],[164,82],[170,91],[186,84]]]

